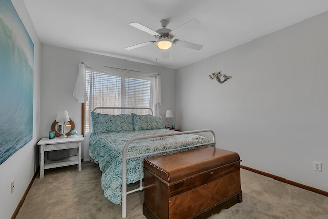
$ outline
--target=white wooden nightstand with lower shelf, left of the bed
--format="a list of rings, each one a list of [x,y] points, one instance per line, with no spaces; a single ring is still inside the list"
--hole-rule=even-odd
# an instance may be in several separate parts
[[[42,138],[37,143],[38,145],[40,145],[40,178],[44,177],[45,169],[50,168],[78,164],[78,171],[81,171],[81,144],[83,140],[84,137],[82,135],[67,138],[56,137],[54,139],[49,139],[48,137]],[[56,151],[70,148],[78,148],[77,156],[70,156],[61,160],[47,160],[47,158],[45,158],[45,151]]]

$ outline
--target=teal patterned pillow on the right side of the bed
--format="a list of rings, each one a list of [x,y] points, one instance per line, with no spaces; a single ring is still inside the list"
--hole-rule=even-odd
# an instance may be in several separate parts
[[[133,116],[134,130],[148,130],[148,129],[163,129],[165,128],[162,120],[162,115],[137,115],[131,113]]]

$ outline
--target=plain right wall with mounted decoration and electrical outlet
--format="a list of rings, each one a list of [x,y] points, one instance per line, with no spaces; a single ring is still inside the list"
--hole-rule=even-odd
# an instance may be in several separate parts
[[[327,23],[324,13],[177,70],[177,124],[213,129],[244,166],[328,191]],[[211,81],[218,71],[233,78]]]

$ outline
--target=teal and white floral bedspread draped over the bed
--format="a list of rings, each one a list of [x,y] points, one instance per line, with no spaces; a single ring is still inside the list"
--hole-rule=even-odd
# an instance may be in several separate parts
[[[174,131],[169,129],[153,129],[91,134],[89,154],[99,164],[100,170],[103,172],[101,187],[104,190],[105,197],[109,201],[118,205],[122,200],[122,151],[125,143],[132,137],[169,132]],[[128,147],[127,157],[206,142],[211,141],[208,138],[194,134],[138,140],[132,142]],[[135,183],[139,180],[140,158],[132,158],[127,161],[127,183]]]

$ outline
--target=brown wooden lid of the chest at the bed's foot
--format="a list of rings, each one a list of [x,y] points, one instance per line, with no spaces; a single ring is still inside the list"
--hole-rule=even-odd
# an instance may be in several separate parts
[[[144,162],[144,169],[170,183],[236,161],[240,161],[236,152],[203,147],[148,158]]]

